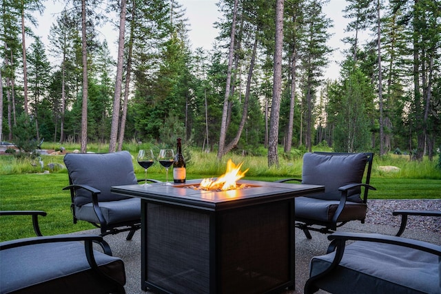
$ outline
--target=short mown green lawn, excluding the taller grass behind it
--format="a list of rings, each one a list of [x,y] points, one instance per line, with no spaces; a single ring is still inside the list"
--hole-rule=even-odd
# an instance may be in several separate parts
[[[141,169],[136,176],[143,178]],[[165,180],[165,174],[150,173],[150,178]],[[207,178],[209,175],[189,175],[189,178]],[[262,176],[246,177],[249,180],[277,180]],[[0,210],[43,210],[48,216],[41,218],[43,235],[71,233],[93,229],[86,222],[72,223],[70,193],[62,188],[68,185],[68,174],[61,171],[51,174],[12,174],[0,176]],[[439,199],[441,180],[372,178],[377,191],[369,191],[371,199]],[[26,216],[1,216],[0,241],[33,236],[32,222]]]

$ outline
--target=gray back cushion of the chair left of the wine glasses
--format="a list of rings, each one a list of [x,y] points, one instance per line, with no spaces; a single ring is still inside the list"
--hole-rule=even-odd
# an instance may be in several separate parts
[[[68,168],[72,183],[89,185],[99,189],[99,201],[127,199],[110,193],[110,187],[136,184],[132,155],[128,151],[106,154],[66,154],[64,163]],[[90,192],[76,191],[75,204],[81,206],[92,202]]]

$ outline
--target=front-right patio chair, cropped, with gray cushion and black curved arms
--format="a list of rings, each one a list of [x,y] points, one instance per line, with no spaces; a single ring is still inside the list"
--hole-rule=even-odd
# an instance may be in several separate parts
[[[441,216],[441,211],[412,213]],[[441,293],[439,245],[377,233],[338,232],[328,239],[327,254],[311,259],[306,294],[319,288],[341,294]]]

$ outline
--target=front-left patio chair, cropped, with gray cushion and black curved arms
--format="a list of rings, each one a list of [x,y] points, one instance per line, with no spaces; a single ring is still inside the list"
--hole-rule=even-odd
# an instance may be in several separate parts
[[[125,293],[123,260],[93,249],[99,235],[41,236],[44,211],[0,211],[32,216],[38,237],[0,242],[0,293]],[[102,246],[107,248],[106,246]]]

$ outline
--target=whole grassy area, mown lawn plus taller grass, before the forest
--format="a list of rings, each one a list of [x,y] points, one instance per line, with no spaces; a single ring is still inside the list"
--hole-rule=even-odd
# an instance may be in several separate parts
[[[131,151],[136,155],[136,150]],[[243,161],[243,169],[249,168],[248,180],[278,180],[300,178],[302,160],[281,159],[279,167],[267,167],[267,158],[256,156],[227,156],[223,162],[216,161],[215,154],[194,152],[187,165],[187,178],[210,178],[225,171],[225,162],[231,157],[234,162]],[[45,165],[63,163],[63,156],[42,156]],[[197,163],[196,163],[197,162]],[[43,235],[71,233],[93,229],[86,222],[72,223],[70,193],[63,191],[68,185],[65,169],[43,173],[41,167],[29,159],[0,156],[0,210],[43,210],[48,216],[41,218]],[[35,165],[35,166],[34,166]],[[393,165],[400,171],[384,173],[379,166]],[[143,178],[143,169],[134,160],[135,173]],[[47,170],[48,168],[45,167]],[[171,175],[171,173],[170,173]],[[158,164],[149,169],[148,178],[165,180],[165,170]],[[441,173],[435,169],[435,162],[411,162],[405,157],[388,156],[374,158],[371,185],[376,191],[369,191],[370,199],[440,199]],[[0,241],[33,236],[32,222],[26,216],[1,216]]]

